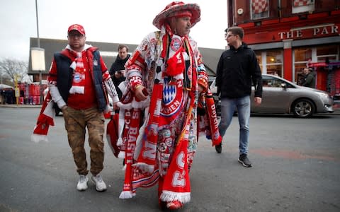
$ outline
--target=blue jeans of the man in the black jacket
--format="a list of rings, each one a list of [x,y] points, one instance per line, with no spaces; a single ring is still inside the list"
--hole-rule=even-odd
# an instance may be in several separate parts
[[[239,154],[248,153],[249,119],[250,119],[250,96],[242,98],[222,98],[221,122],[218,126],[221,136],[225,136],[228,126],[232,122],[235,108],[239,117]]]

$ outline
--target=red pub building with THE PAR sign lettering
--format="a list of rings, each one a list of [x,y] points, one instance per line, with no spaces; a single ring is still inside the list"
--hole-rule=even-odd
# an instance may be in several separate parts
[[[228,26],[244,29],[262,73],[297,83],[312,68],[316,88],[339,100],[339,0],[227,0],[227,10]]]

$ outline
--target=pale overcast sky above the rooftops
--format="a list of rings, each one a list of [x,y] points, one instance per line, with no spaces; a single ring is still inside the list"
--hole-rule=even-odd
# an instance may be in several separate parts
[[[0,0],[0,58],[28,61],[30,37],[38,37],[35,0]],[[165,0],[37,0],[40,38],[67,39],[73,23],[84,26],[86,41],[139,45],[157,30],[152,20],[171,1]],[[184,1],[200,6],[191,30],[198,47],[225,49],[227,1]],[[113,49],[115,51],[115,49]]]

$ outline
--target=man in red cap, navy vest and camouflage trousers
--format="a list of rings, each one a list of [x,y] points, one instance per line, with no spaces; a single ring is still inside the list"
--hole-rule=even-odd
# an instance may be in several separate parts
[[[83,26],[70,25],[67,40],[67,47],[54,54],[48,88],[52,100],[64,116],[69,146],[79,174],[77,189],[84,191],[88,188],[89,170],[84,149],[87,128],[91,148],[91,179],[96,184],[96,190],[103,192],[107,188],[100,175],[104,160],[103,112],[108,108],[107,93],[113,99],[114,107],[119,101],[118,94],[98,48],[86,44]]]

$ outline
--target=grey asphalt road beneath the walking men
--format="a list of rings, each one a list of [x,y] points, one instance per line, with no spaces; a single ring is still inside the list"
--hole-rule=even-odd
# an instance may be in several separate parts
[[[30,141],[39,112],[0,107],[0,211],[159,211],[157,187],[139,189],[133,199],[118,198],[122,161],[108,145],[102,172],[108,190],[96,192],[89,182],[86,192],[78,192],[63,118],[56,117],[48,143]],[[249,158],[254,167],[246,168],[237,162],[234,117],[221,154],[200,138],[191,169],[191,202],[180,211],[340,211],[339,126],[340,116],[331,114],[252,116]]]

